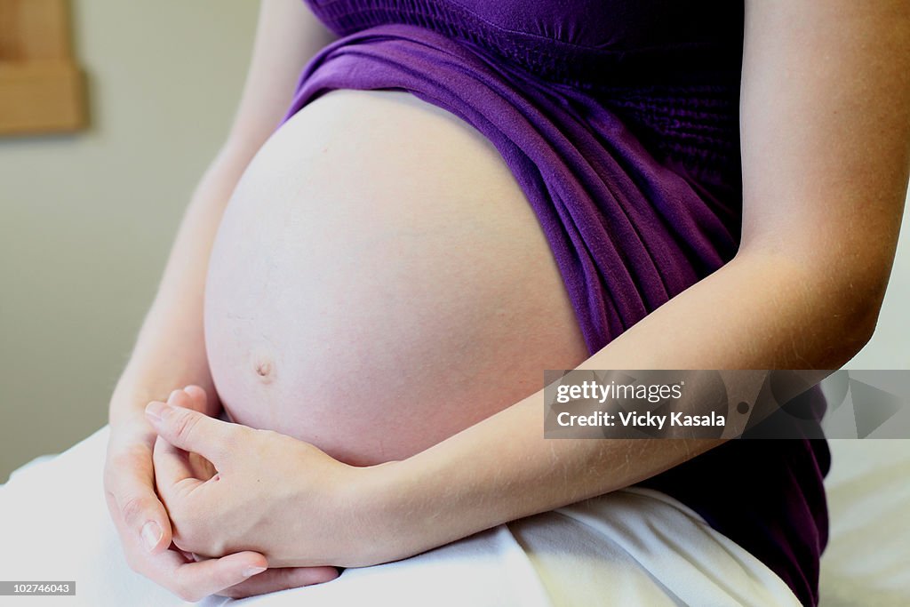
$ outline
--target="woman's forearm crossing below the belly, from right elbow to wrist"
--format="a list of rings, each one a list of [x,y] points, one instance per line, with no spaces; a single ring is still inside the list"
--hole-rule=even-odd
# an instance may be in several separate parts
[[[868,339],[875,314],[858,299],[833,297],[841,287],[817,276],[785,259],[736,259],[580,368],[835,369]],[[374,545],[393,553],[367,561],[401,558],[621,489],[721,444],[544,440],[543,420],[541,390],[430,450],[380,467],[371,490],[379,498],[368,505],[367,520],[389,542]]]

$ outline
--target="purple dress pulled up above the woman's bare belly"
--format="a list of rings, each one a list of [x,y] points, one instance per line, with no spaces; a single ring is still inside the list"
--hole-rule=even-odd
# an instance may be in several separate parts
[[[536,213],[591,353],[736,252],[742,3],[307,1],[343,37],[285,120],[332,89],[399,89],[474,126]],[[824,440],[736,440],[641,484],[816,604],[829,462]]]

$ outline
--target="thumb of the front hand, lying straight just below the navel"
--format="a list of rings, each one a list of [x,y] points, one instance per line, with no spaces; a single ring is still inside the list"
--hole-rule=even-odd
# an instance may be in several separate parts
[[[182,450],[198,453],[215,464],[218,470],[227,463],[232,447],[245,430],[243,426],[157,400],[148,403],[146,418],[167,442]]]

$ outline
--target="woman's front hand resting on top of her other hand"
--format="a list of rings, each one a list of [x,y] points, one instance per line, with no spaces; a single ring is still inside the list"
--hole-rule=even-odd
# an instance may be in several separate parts
[[[180,550],[206,557],[256,551],[279,568],[370,564],[360,559],[369,537],[356,520],[357,490],[369,469],[333,460],[307,442],[180,406],[196,396],[189,388],[146,410],[159,435],[157,489]],[[308,575],[323,582],[329,572],[337,575],[332,567]]]

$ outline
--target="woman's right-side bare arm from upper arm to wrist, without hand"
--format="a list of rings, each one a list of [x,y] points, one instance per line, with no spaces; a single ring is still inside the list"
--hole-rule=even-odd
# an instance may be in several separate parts
[[[745,27],[740,251],[582,369],[836,369],[875,328],[910,168],[910,5],[754,0]],[[372,540],[361,562],[617,490],[719,444],[544,440],[543,411],[541,391],[363,475],[375,484],[359,498]]]

